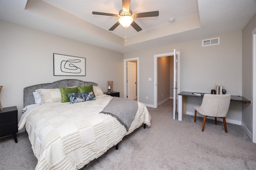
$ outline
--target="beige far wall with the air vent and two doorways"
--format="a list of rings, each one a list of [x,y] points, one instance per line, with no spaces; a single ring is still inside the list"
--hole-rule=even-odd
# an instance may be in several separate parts
[[[180,51],[180,91],[210,93],[214,82],[222,85],[227,93],[242,95],[242,31],[220,37],[220,45],[202,47],[202,39],[166,45],[124,54],[124,59],[140,59],[140,102],[154,105],[154,55]],[[148,81],[148,78],[152,81]],[[148,100],[146,100],[148,96]],[[187,98],[187,111],[194,113],[193,106],[201,99]],[[227,119],[241,123],[242,103],[231,102]]]

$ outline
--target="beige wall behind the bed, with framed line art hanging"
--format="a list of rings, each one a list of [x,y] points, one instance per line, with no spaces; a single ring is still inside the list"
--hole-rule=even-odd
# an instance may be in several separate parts
[[[3,107],[17,106],[22,115],[23,88],[62,79],[98,83],[104,92],[108,80],[123,97],[123,54],[0,21],[0,100]],[[86,76],[54,76],[53,53],[86,58]]]

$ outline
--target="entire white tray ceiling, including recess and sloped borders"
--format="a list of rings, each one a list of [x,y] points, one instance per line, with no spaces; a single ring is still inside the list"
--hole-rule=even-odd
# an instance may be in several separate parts
[[[241,31],[256,13],[256,0],[131,0],[134,14],[159,11],[158,17],[134,19],[140,32],[122,25],[108,31],[118,18],[92,15],[121,9],[122,0],[0,0],[0,19],[128,53]]]

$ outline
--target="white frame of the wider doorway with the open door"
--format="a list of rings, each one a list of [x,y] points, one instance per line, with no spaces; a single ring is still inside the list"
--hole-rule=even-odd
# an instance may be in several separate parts
[[[154,108],[157,108],[157,58],[172,56],[172,55],[174,55],[174,52],[154,55]],[[177,55],[177,62],[178,62],[177,63],[177,67],[178,67],[177,68],[177,88],[178,88],[177,93],[179,93],[180,92],[180,51],[176,51],[176,55]],[[177,99],[177,104],[178,104],[178,99]],[[178,106],[177,106],[177,112],[178,112]]]

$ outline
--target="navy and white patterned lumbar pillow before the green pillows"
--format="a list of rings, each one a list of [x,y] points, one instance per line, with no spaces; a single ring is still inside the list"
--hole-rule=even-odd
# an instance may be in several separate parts
[[[95,100],[92,91],[85,93],[68,93],[67,95],[70,104],[85,102],[88,100]]]

